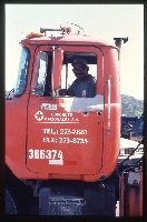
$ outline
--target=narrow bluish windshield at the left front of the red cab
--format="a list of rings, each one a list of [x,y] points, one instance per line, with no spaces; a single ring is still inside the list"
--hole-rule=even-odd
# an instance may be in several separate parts
[[[13,97],[20,97],[24,92],[27,85],[29,58],[29,50],[27,48],[22,48]]]

